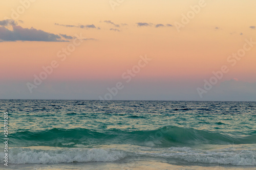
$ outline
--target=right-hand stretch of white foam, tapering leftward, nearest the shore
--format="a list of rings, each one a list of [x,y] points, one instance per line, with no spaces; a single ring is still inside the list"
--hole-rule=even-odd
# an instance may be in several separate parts
[[[141,153],[142,154],[142,153]],[[172,147],[165,152],[143,153],[165,159],[178,159],[187,162],[253,166],[256,165],[256,149],[252,150],[232,150],[231,148],[222,150],[196,150],[191,148]]]

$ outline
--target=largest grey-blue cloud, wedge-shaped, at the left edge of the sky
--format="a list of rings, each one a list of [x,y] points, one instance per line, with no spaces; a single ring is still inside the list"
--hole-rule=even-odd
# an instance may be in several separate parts
[[[5,26],[11,25],[12,30],[7,29]],[[34,29],[33,27],[22,28],[17,26],[14,20],[7,19],[0,21],[0,40],[3,41],[52,41],[61,42],[59,35],[51,34],[42,30]]]

